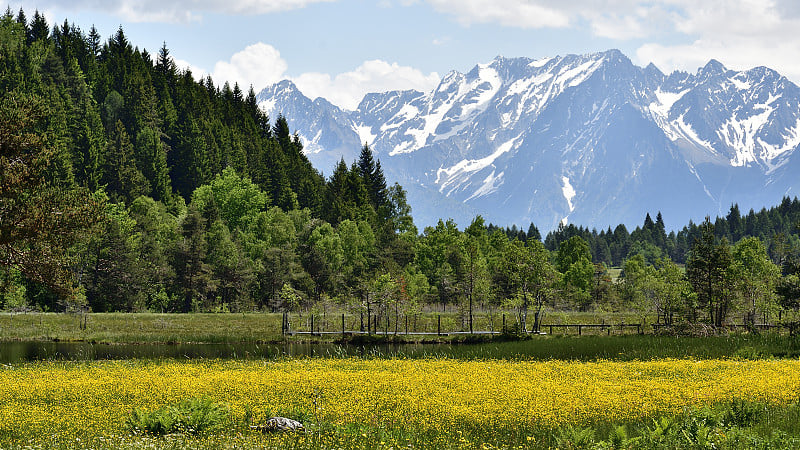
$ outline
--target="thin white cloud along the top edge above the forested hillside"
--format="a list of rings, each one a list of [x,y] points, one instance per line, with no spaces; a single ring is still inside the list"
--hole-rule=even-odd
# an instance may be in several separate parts
[[[268,14],[304,8],[312,3],[335,0],[40,0],[40,9],[61,8],[70,11],[101,11],[130,22],[197,22],[204,13]]]

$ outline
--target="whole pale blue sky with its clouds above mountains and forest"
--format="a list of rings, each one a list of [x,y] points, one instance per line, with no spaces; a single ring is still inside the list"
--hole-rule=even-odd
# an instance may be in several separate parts
[[[797,0],[37,0],[28,17],[65,18],[104,39],[122,26],[182,67],[256,91],[292,79],[309,97],[354,108],[367,92],[430,90],[497,55],[618,48],[634,63],[694,72],[768,66],[800,81]]]

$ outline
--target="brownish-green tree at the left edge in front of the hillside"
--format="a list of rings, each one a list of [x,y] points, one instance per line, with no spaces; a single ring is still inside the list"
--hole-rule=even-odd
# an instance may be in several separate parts
[[[0,101],[0,265],[71,299],[74,246],[102,221],[103,199],[53,173],[58,144],[41,132],[45,114],[34,96]]]

